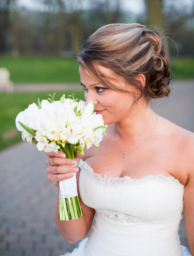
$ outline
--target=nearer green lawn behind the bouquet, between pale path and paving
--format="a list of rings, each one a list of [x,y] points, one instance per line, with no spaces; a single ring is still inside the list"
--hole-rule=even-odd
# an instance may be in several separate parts
[[[40,100],[47,99],[47,94],[49,93],[53,95],[54,92],[0,94],[0,150],[22,140],[21,132],[19,132],[15,126],[15,118],[18,113],[33,102],[37,104],[38,97]],[[60,100],[63,93],[65,93],[67,97],[72,94],[72,91],[57,91],[55,100]],[[84,100],[84,92],[82,90],[75,91],[75,97]]]

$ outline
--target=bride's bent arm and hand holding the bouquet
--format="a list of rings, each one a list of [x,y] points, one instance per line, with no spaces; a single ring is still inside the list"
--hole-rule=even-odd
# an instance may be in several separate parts
[[[46,161],[48,180],[51,181],[55,186],[59,187],[59,181],[68,179],[72,177],[72,173],[76,172],[77,164],[79,158],[76,158],[76,164],[73,163],[73,159],[64,158],[63,152],[47,153],[49,156]],[[64,167],[59,165],[75,165],[74,167]],[[94,218],[94,209],[88,207],[83,203],[79,195],[79,172],[76,173],[77,178],[77,188],[80,206],[82,206],[83,216],[76,220],[70,221],[60,221],[59,216],[59,188],[57,195],[57,203],[55,210],[55,222],[63,237],[70,243],[75,243],[76,241],[82,239],[87,235],[91,228],[91,224]]]

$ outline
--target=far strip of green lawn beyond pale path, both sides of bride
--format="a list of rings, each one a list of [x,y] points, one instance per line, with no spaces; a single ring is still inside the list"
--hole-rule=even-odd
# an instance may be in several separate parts
[[[0,55],[0,67],[10,70],[14,83],[79,83],[76,58]],[[194,78],[194,58],[171,59],[173,79]]]

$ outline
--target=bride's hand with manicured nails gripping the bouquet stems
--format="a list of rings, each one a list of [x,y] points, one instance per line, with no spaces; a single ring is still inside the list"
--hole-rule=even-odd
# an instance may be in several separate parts
[[[65,153],[61,151],[58,151],[58,153],[47,152],[46,154],[48,156],[48,160],[46,161],[46,172],[48,173],[48,180],[51,183],[53,183],[56,187],[59,187],[59,181],[71,178],[74,176],[76,172],[78,172],[78,157],[75,157],[75,160],[65,158]]]

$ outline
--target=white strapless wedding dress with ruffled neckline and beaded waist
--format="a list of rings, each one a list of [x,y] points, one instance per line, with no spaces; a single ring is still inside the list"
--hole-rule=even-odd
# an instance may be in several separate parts
[[[65,256],[191,256],[180,245],[184,185],[163,174],[102,177],[83,160],[79,190],[95,209],[89,238]]]

